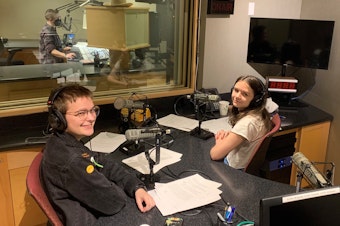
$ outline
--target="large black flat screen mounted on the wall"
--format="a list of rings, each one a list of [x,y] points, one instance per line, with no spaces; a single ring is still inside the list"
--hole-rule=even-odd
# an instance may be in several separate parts
[[[334,21],[251,18],[247,62],[328,69]]]

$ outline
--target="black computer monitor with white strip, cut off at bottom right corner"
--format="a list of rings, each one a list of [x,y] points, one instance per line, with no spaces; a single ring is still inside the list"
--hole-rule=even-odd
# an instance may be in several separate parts
[[[331,226],[340,222],[340,187],[328,187],[264,198],[260,225]]]

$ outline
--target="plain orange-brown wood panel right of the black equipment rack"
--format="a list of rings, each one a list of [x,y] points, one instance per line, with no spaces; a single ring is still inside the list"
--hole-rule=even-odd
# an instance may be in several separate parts
[[[298,128],[296,131],[296,151],[302,152],[311,162],[324,162],[326,160],[327,143],[330,122],[323,122]],[[323,171],[323,167],[318,168]],[[296,185],[297,167],[292,165],[290,184]],[[309,186],[303,179],[302,187]]]

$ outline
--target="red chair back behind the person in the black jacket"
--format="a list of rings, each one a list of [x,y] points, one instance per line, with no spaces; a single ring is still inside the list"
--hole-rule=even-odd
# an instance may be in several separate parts
[[[62,226],[57,213],[53,209],[50,201],[48,200],[46,193],[40,181],[40,163],[43,157],[43,153],[39,152],[33,159],[33,162],[28,169],[26,178],[26,185],[28,193],[34,198],[40,208],[46,214],[49,222],[54,226]]]

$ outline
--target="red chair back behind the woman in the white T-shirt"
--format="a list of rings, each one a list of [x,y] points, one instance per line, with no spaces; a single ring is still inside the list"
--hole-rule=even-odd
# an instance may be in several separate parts
[[[273,137],[273,134],[280,129],[281,119],[278,113],[273,115],[272,117],[273,128],[262,137],[261,141],[255,148],[255,151],[251,158],[249,159],[247,166],[244,168],[244,172],[260,176],[261,167],[266,159],[267,150],[270,144],[270,141]]]

